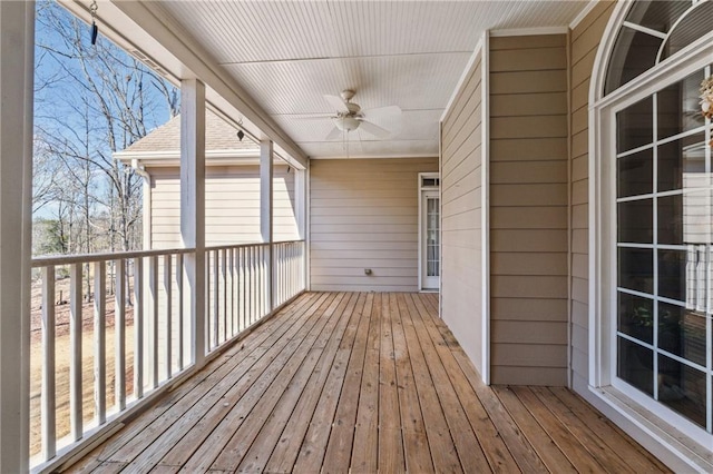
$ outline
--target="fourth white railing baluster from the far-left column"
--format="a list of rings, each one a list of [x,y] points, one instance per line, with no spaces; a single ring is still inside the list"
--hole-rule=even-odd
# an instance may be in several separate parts
[[[115,261],[116,294],[114,303],[114,389],[119,412],[126,408],[126,260]]]

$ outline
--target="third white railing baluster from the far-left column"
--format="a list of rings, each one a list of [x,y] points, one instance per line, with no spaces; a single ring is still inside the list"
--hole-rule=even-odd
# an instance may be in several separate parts
[[[99,425],[107,419],[107,271],[94,263],[94,411]]]

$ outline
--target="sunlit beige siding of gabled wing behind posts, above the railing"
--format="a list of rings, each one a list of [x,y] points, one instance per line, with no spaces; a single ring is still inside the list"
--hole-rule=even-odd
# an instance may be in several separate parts
[[[176,248],[180,241],[178,168],[149,168],[152,248]],[[205,184],[206,245],[257,243],[260,234],[260,168],[208,167]],[[273,179],[274,239],[299,238],[294,215],[294,174],[275,166]]]

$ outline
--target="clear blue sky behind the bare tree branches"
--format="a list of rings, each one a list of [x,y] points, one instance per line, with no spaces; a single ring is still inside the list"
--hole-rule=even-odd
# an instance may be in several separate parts
[[[85,68],[77,57],[79,52],[88,58]],[[72,160],[71,155],[88,156],[95,162],[110,166],[111,148],[118,151],[169,119],[168,102],[156,87],[156,77],[148,72],[136,75],[130,68],[133,57],[110,43],[100,30],[97,46],[92,47],[90,26],[55,1],[37,2],[35,56],[36,190],[60,178],[65,180],[60,187],[70,188],[77,181],[72,175],[81,164]],[[102,80],[105,77],[109,80]],[[96,90],[87,78],[94,80]],[[139,91],[144,97],[140,112]],[[120,100],[121,97],[127,100]],[[127,115],[127,109],[134,113]],[[123,127],[123,121],[115,119],[109,130],[105,110],[117,118],[127,118],[125,122],[131,122],[131,127]],[[133,120],[139,116],[143,127]],[[126,129],[131,131],[127,134]],[[114,132],[114,140],[109,140],[109,131]],[[110,141],[116,145],[110,146]],[[95,194],[108,194],[107,176],[101,169],[84,171],[92,177]],[[98,211],[102,206],[95,203],[94,208]],[[51,219],[59,211],[57,203],[33,207],[39,208],[35,218]]]

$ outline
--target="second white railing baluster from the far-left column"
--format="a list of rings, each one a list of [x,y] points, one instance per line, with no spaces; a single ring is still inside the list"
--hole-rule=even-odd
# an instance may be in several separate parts
[[[72,264],[70,273],[70,317],[69,317],[69,344],[71,347],[71,362],[69,365],[69,407],[72,441],[79,441],[82,433],[81,415],[81,263]]]

